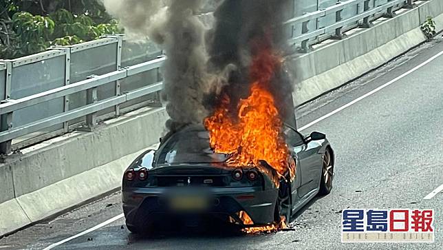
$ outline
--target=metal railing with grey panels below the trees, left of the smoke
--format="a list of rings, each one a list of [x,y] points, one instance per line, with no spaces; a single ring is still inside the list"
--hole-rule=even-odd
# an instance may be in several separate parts
[[[161,51],[150,54],[156,59],[147,61],[137,59],[140,51],[125,50],[123,54],[136,56],[126,55],[127,60],[122,61],[123,43],[122,36],[109,36],[1,61],[0,154],[80,126],[94,129],[99,121],[120,116],[123,104],[127,112],[158,106],[162,90],[159,67],[164,61]],[[136,79],[131,82],[131,78]]]

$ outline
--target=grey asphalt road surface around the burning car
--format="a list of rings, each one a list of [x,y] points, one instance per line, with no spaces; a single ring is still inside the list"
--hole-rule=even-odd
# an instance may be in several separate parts
[[[426,43],[384,67],[296,111],[299,127],[389,83],[443,51]],[[299,213],[294,231],[233,236],[223,233],[133,236],[120,218],[54,249],[443,249],[443,55],[361,101],[304,129],[324,132],[336,152],[331,194]],[[69,194],[67,194],[69,195]],[[342,244],[346,208],[434,209],[435,243]],[[0,249],[44,249],[122,213],[112,194],[50,222],[0,240]],[[217,230],[215,230],[217,231]]]

